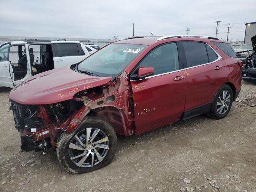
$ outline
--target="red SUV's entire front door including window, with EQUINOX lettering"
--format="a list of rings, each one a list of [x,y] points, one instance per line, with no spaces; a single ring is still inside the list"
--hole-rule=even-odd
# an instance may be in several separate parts
[[[141,134],[180,119],[184,111],[186,76],[184,70],[180,70],[176,43],[154,48],[138,67],[154,68],[152,76],[131,81],[135,132]]]

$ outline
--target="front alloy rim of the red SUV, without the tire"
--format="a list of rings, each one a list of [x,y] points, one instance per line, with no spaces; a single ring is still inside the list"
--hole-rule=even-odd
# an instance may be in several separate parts
[[[73,136],[68,154],[76,166],[93,167],[104,160],[108,149],[108,136],[102,130],[86,128]]]

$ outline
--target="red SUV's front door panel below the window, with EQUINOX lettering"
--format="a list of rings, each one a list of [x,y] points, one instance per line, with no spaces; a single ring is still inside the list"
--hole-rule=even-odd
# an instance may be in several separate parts
[[[184,76],[175,81],[177,76]],[[136,134],[180,119],[184,111],[186,74],[173,72],[145,80],[131,81]]]

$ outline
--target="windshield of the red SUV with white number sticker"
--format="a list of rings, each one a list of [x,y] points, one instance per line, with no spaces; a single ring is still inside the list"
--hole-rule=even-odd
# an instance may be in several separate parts
[[[146,45],[110,44],[78,65],[78,71],[86,71],[97,76],[112,76],[121,74]]]

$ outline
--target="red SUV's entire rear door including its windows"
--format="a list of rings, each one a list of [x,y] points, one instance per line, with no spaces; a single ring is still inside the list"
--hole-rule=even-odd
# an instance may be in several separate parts
[[[193,110],[195,114],[207,112],[225,81],[225,62],[218,52],[204,42],[183,42],[183,47],[187,86],[185,111]]]

